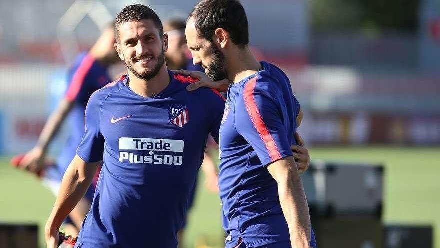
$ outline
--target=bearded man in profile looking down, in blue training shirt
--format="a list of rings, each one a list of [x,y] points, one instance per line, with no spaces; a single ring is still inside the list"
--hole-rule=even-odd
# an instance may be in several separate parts
[[[316,247],[290,145],[300,118],[287,76],[249,50],[238,0],[202,0],[186,39],[195,64],[229,86],[220,128],[220,197],[232,247]]]

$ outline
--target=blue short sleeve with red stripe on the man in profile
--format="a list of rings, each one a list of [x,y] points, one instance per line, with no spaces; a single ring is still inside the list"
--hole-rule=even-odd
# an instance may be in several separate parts
[[[235,105],[238,133],[255,150],[263,166],[292,156],[279,102],[256,88],[256,78],[246,82],[243,98]]]

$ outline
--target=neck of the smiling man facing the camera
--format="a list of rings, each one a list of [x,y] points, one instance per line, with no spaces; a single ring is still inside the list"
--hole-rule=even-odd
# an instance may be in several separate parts
[[[166,64],[160,68],[160,71],[151,79],[145,80],[136,77],[130,70],[128,70],[129,87],[137,95],[143,97],[153,97],[163,91],[171,81]]]

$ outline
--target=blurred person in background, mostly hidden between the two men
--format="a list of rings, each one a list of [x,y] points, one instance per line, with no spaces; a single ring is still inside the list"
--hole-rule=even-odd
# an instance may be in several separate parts
[[[163,32],[168,34],[168,51],[165,52],[166,66],[169,70],[185,69],[190,71],[200,71],[203,69],[192,62],[185,37],[186,21],[180,18],[168,19],[163,23]],[[218,146],[212,137],[208,138],[206,150],[204,153],[201,169],[205,175],[205,186],[213,192],[218,193],[218,171],[214,162],[214,154],[218,151]],[[194,197],[197,189],[197,181],[194,184],[194,190],[189,199],[189,209],[194,203]],[[184,229],[187,224],[188,216],[186,216],[182,229],[178,233],[179,247],[183,246]]]

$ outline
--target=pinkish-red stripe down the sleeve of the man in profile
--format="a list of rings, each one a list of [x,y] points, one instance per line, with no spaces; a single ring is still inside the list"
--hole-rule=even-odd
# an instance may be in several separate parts
[[[278,160],[281,158],[281,153],[279,152],[278,146],[273,139],[272,134],[270,134],[267,129],[266,124],[259,112],[258,106],[256,105],[254,90],[256,86],[256,77],[247,81],[244,86],[244,105],[246,106],[247,113],[250,116],[250,120],[252,121],[253,126],[264,142],[264,146],[269,152],[270,159],[272,161]]]

